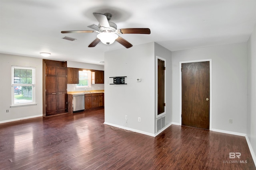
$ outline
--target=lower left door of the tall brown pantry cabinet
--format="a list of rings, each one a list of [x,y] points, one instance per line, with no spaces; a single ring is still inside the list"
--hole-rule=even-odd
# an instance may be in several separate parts
[[[46,115],[57,113],[57,94],[46,94]]]

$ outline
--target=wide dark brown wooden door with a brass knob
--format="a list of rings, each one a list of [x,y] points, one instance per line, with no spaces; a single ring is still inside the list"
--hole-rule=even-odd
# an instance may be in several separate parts
[[[182,64],[182,125],[210,127],[210,62]]]

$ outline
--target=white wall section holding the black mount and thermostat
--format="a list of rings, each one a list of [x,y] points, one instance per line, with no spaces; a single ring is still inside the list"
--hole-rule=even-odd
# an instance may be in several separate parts
[[[105,53],[106,124],[154,135],[154,64],[153,42]],[[109,84],[113,83],[109,77],[115,76],[127,76],[127,85]],[[141,82],[136,82],[136,78],[141,78]]]

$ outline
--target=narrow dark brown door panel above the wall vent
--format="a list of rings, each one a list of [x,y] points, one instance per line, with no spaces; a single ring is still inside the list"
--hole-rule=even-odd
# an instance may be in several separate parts
[[[157,90],[157,115],[160,115],[161,113],[164,113],[164,61],[158,59],[157,60],[157,65],[158,65],[158,90]]]

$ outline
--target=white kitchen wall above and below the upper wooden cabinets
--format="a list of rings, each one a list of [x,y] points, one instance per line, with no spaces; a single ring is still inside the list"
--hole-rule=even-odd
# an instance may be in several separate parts
[[[75,61],[67,61],[68,67],[73,68],[84,68],[88,70],[104,70],[104,65],[100,64],[89,64],[89,63],[80,63]],[[76,88],[76,84],[68,84],[68,92],[74,91],[83,91],[81,88]],[[104,84],[92,84],[92,87],[86,88],[86,90],[104,90]]]

